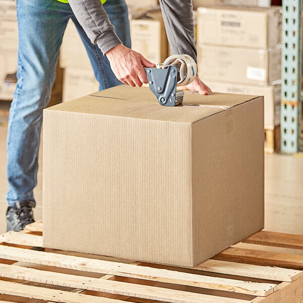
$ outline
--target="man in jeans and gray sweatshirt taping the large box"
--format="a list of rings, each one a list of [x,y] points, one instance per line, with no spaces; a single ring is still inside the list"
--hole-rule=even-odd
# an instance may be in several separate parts
[[[76,25],[100,90],[121,82],[141,87],[147,83],[142,66],[155,65],[130,49],[125,0],[16,0],[16,4],[18,82],[9,116],[6,197],[8,230],[19,231],[34,221],[42,111],[51,95],[68,20]],[[160,5],[173,54],[188,54],[196,60],[191,1],[160,0]],[[210,91],[198,76],[184,88],[201,94]]]

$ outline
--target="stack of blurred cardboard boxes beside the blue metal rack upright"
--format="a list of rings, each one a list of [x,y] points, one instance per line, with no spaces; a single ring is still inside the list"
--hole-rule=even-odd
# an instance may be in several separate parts
[[[281,7],[198,8],[198,73],[213,91],[265,95],[265,128],[280,123]]]

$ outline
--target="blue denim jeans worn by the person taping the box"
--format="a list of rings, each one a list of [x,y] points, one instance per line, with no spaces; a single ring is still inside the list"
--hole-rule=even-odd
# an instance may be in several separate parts
[[[51,97],[56,63],[63,33],[69,19],[75,23],[85,45],[99,89],[121,84],[108,59],[92,44],[76,20],[69,4],[56,0],[17,0],[19,31],[17,86],[10,109],[7,137],[7,201],[35,199],[38,149],[42,112]],[[116,33],[130,47],[125,0],[108,0],[104,5]],[[73,56],[73,54],[71,54]],[[56,189],[54,189],[56,190]]]

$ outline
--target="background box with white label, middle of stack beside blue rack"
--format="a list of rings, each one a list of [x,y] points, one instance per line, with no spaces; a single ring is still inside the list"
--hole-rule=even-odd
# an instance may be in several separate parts
[[[281,48],[199,45],[198,73],[201,78],[214,81],[277,84],[281,79]]]

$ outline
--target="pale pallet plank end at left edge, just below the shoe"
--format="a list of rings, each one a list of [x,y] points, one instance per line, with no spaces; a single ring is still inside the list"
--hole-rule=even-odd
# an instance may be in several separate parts
[[[22,232],[9,231],[0,235],[0,243],[42,247],[42,236]]]

